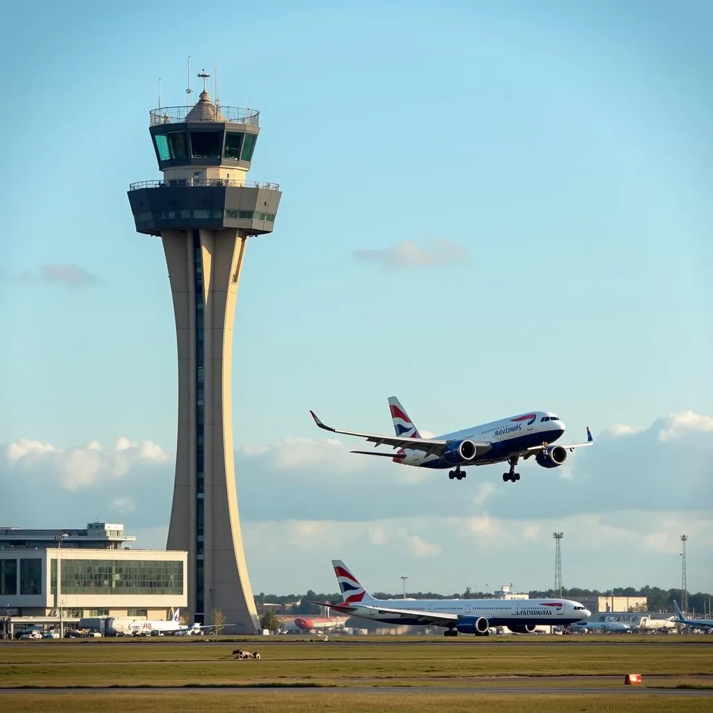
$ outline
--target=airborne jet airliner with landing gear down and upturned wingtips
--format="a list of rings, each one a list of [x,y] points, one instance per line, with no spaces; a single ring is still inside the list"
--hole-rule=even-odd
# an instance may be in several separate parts
[[[396,453],[379,453],[378,451],[350,451],[364,456],[386,456],[394,463],[418,468],[451,468],[448,478],[466,477],[463,466],[489,466],[491,463],[509,463],[510,470],[503,473],[503,482],[520,480],[520,473],[515,473],[520,458],[526,461],[535,456],[535,462],[543,468],[557,468],[567,459],[568,451],[575,448],[591,446],[594,443],[591,431],[587,427],[585,443],[569,443],[566,446],[554,446],[564,432],[565,424],[555,414],[545,411],[530,411],[518,414],[509,419],[491,421],[489,424],[473,426],[471,429],[455,431],[452,434],[436,438],[421,438],[414,422],[409,419],[404,407],[396,396],[389,396],[391,420],[394,422],[396,438],[376,434],[361,434],[356,431],[339,431],[326,426],[312,414],[314,423],[320,429],[332,431],[334,434],[359,436],[366,438],[376,446],[391,446],[399,448]]]

